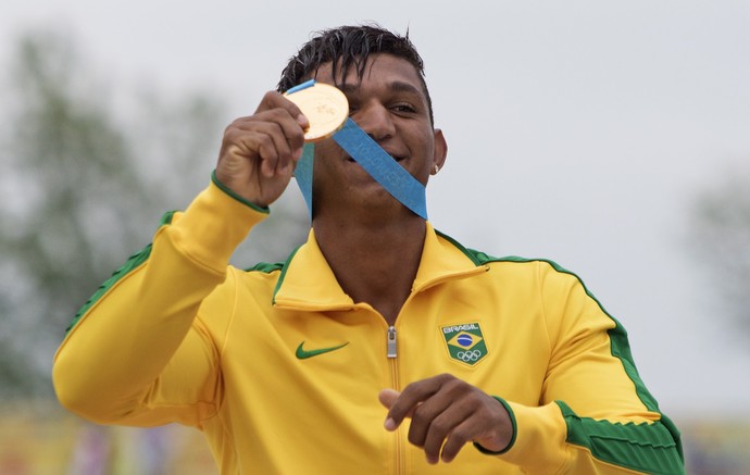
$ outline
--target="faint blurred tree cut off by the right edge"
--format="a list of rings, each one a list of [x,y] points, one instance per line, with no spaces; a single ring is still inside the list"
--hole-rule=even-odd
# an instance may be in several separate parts
[[[697,195],[690,230],[717,308],[739,329],[750,329],[750,168],[738,166]]]

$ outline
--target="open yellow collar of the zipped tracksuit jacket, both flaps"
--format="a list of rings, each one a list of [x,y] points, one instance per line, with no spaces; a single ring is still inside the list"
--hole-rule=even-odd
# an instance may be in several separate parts
[[[462,278],[486,271],[471,252],[453,239],[436,232],[426,223],[427,232],[420,267],[412,292],[422,291],[443,280]],[[274,304],[297,310],[348,310],[354,301],[343,292],[328,266],[315,234],[310,229],[308,241],[287,260],[274,291]]]

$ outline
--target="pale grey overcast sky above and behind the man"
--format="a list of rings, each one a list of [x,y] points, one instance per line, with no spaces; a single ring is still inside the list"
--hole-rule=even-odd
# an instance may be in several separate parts
[[[749,418],[747,337],[712,303],[688,220],[750,163],[748,1],[4,0],[0,64],[55,28],[120,82],[214,91],[228,123],[312,32],[363,22],[408,29],[425,60],[449,145],[433,224],[579,275],[667,414]]]

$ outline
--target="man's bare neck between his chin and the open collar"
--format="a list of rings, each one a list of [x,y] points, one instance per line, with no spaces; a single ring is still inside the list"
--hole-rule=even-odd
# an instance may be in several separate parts
[[[315,239],[336,279],[355,302],[393,324],[407,301],[422,258],[426,226],[416,215],[387,223],[313,221]]]

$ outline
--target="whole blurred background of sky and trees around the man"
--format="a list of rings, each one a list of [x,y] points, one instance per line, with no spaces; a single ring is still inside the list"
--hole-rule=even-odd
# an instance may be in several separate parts
[[[0,5],[1,474],[215,473],[193,429],[63,412],[53,353],[310,34],[363,22],[425,60],[449,143],[435,226],[578,274],[688,473],[750,473],[750,2],[260,3]],[[283,260],[308,227],[292,185],[233,263]]]

